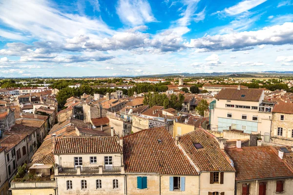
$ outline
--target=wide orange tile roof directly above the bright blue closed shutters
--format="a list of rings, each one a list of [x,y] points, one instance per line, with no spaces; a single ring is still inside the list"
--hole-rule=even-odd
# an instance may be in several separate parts
[[[145,129],[123,137],[123,144],[128,173],[198,175],[165,127]]]

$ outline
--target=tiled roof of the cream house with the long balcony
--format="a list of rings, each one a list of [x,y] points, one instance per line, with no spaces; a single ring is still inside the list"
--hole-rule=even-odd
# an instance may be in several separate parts
[[[54,154],[122,153],[118,137],[62,137],[56,142]]]

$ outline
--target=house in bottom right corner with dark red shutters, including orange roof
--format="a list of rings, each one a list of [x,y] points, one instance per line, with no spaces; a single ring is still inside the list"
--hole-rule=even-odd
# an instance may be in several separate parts
[[[291,148],[240,144],[226,152],[236,169],[235,195],[292,195]]]

